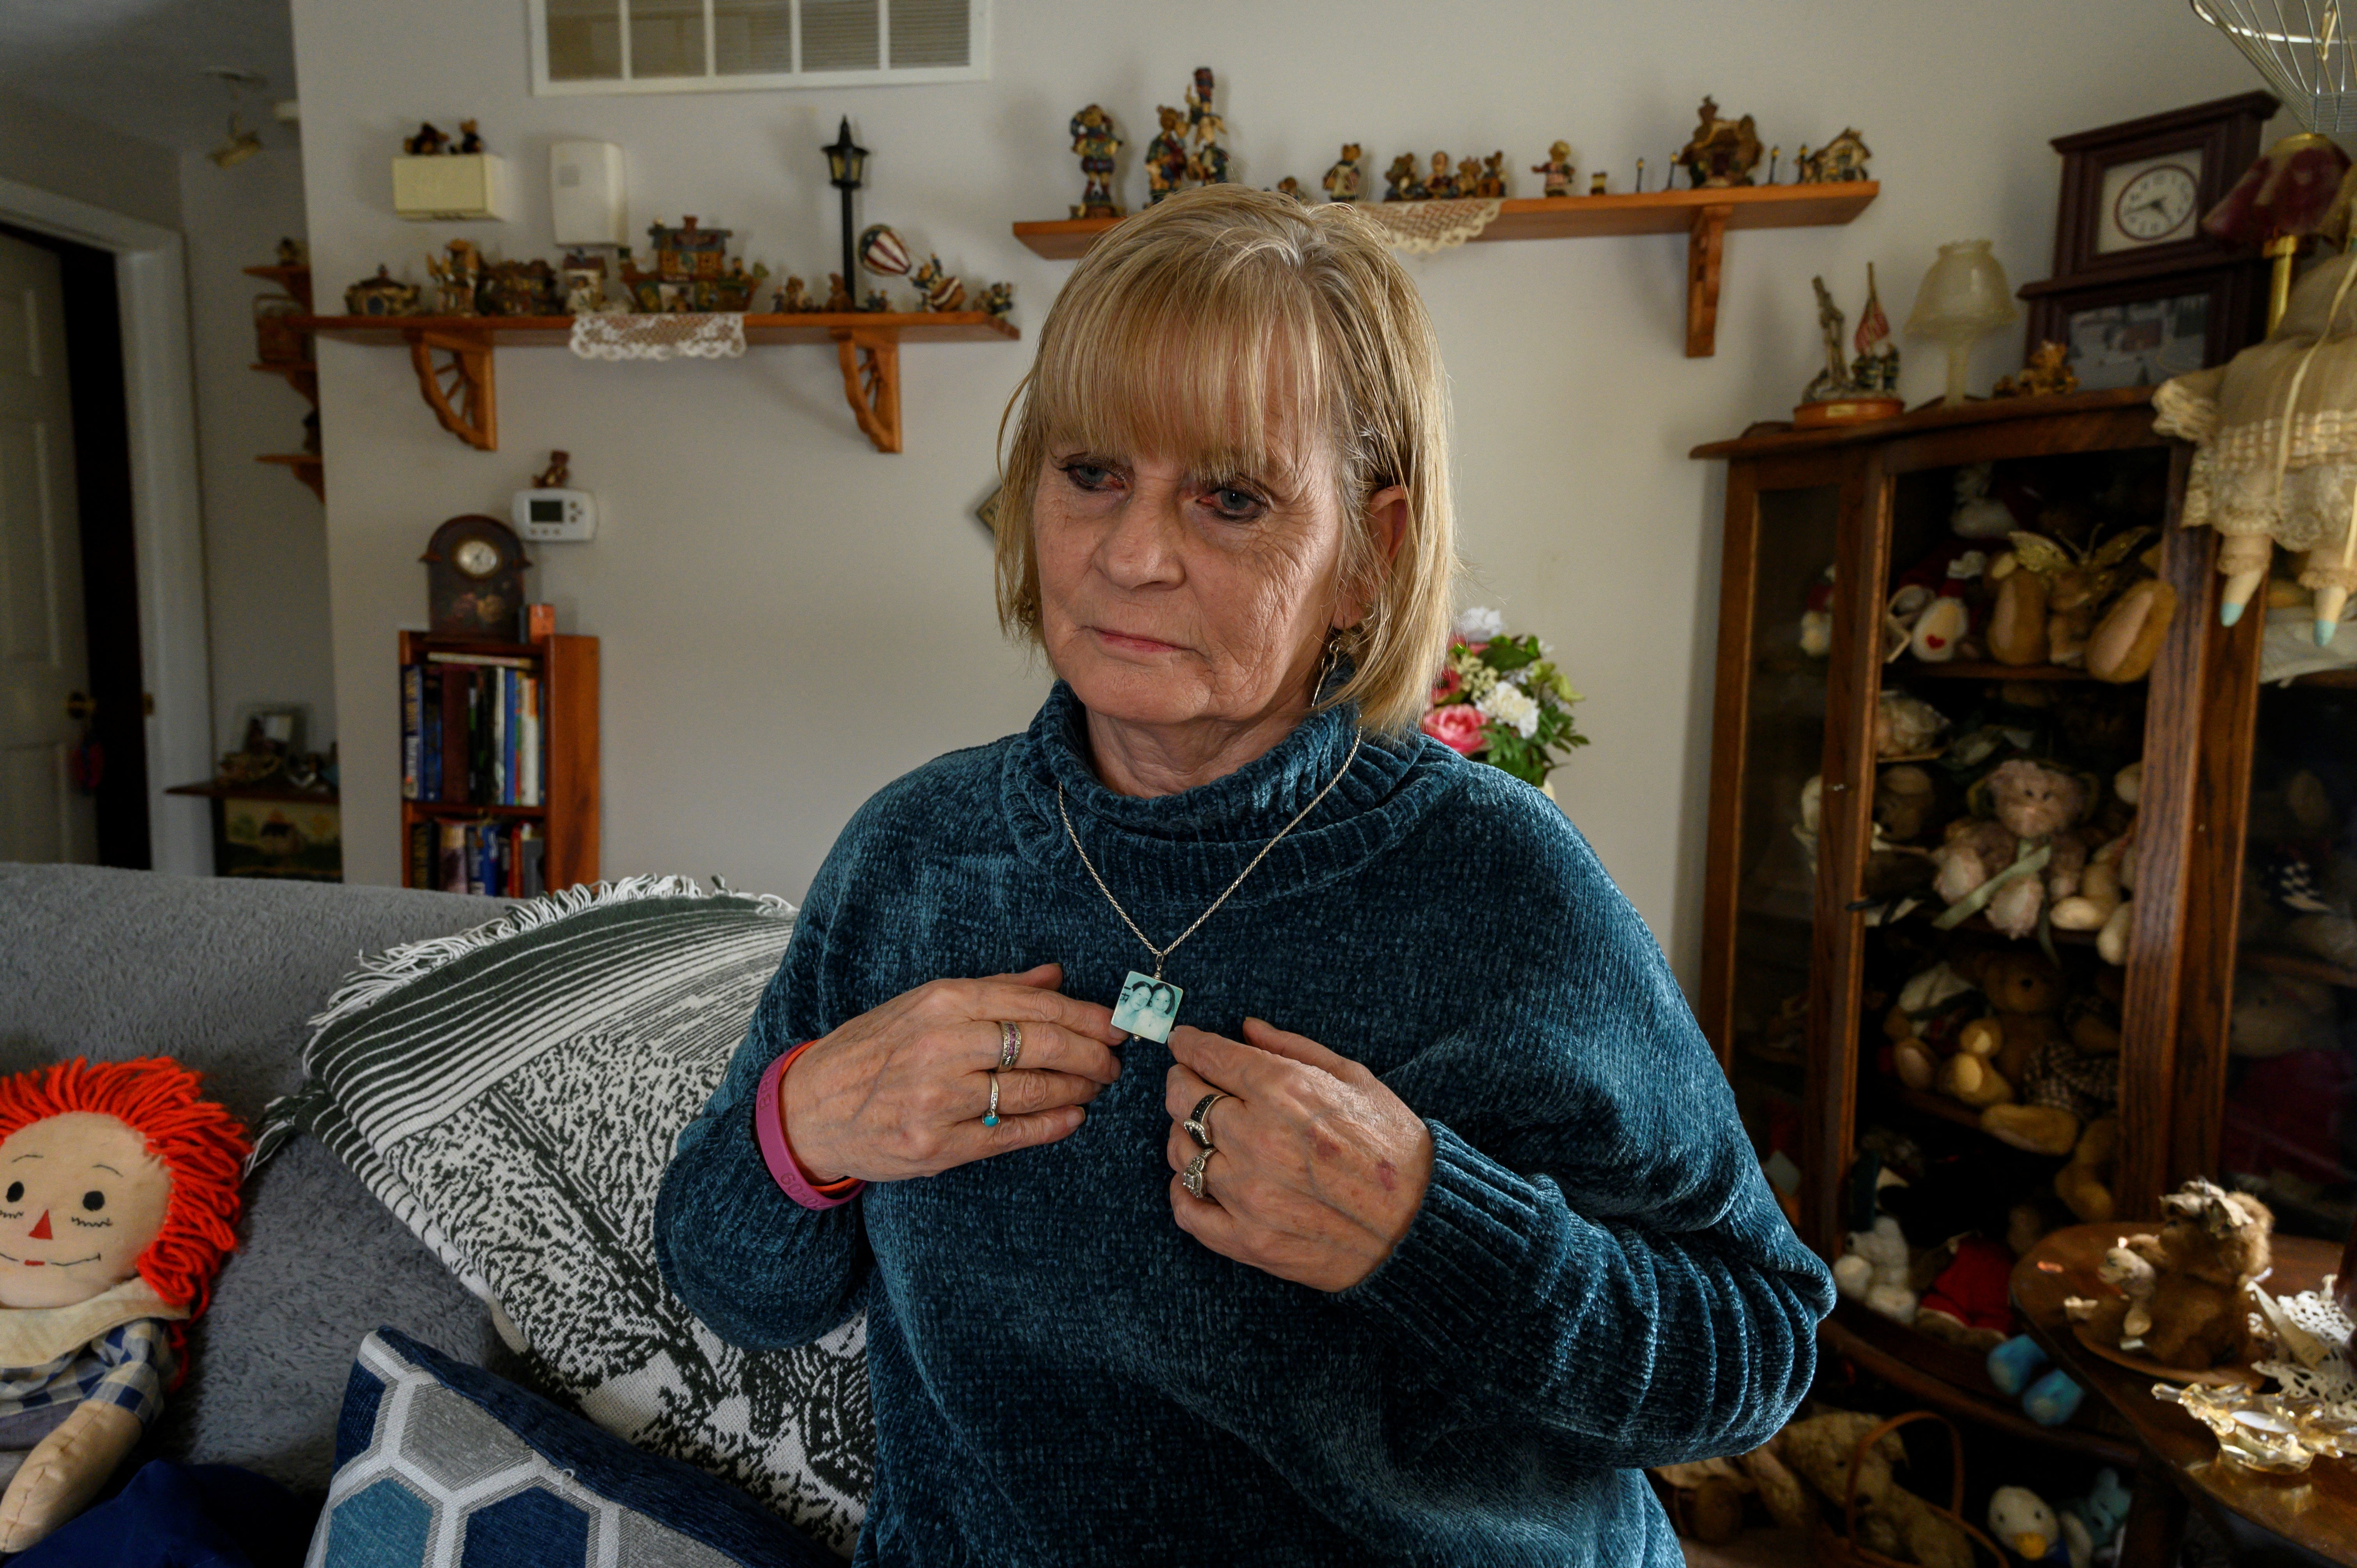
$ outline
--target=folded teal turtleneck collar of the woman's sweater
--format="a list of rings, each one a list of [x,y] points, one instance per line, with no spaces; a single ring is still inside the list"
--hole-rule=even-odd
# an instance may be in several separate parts
[[[1056,813],[1061,788],[1072,832],[1115,898],[1131,915],[1146,908],[1167,913],[1164,905],[1171,905],[1186,908],[1193,920],[1334,780],[1358,738],[1358,710],[1329,707],[1223,778],[1176,795],[1117,795],[1089,766],[1087,710],[1068,684],[1056,681],[1006,755],[1006,809],[1023,856],[1075,877],[1094,898],[1098,894]],[[1461,766],[1454,752],[1421,736],[1367,733],[1334,790],[1285,835],[1226,908],[1294,896],[1353,872],[1459,788]],[[1113,920],[1113,913],[1105,917]],[[1155,934],[1148,924],[1148,934],[1160,941],[1176,927]]]

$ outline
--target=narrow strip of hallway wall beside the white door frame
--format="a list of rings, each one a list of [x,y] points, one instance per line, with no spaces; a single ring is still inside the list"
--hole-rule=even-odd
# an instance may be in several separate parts
[[[212,630],[212,738],[233,750],[252,705],[311,710],[309,750],[335,729],[335,651],[328,639],[328,528],[288,469],[257,453],[299,453],[309,403],[255,363],[255,295],[276,292],[245,266],[302,238],[302,158],[269,149],[222,170],[179,160],[189,241],[189,330],[196,358],[198,460],[205,488],[205,608]],[[179,783],[179,780],[167,780]]]

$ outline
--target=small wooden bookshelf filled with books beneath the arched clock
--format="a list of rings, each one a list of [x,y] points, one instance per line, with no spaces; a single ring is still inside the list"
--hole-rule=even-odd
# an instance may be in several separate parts
[[[596,882],[596,637],[403,632],[398,681],[401,884],[530,896]],[[469,887],[453,868],[474,870]]]

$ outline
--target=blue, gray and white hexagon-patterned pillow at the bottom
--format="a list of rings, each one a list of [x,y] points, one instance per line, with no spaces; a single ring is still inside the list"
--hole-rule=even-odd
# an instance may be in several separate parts
[[[313,1568],[841,1568],[721,1481],[379,1327],[335,1431]]]

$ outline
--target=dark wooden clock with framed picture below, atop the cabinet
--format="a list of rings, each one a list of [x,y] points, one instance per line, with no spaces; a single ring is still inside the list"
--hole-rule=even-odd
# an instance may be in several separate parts
[[[2079,384],[2143,387],[2216,365],[2265,330],[2265,257],[2201,231],[2258,158],[2279,104],[2246,92],[2058,137],[2055,274],[2027,283],[2029,344]]]

